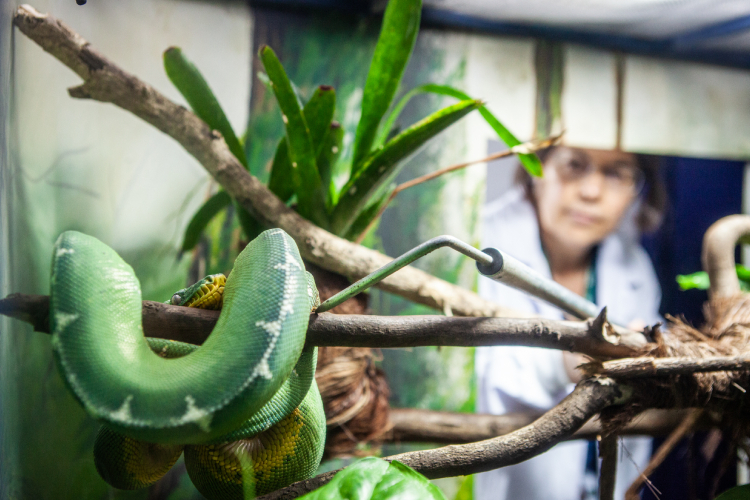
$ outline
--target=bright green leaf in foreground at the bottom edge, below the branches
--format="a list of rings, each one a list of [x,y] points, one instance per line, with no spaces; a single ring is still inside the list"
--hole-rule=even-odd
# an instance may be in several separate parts
[[[398,461],[363,458],[300,500],[445,500],[426,477]]]

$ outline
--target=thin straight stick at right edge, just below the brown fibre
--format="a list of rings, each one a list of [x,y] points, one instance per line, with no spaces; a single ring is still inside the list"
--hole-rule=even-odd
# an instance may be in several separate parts
[[[715,356],[710,358],[652,358],[618,359],[602,364],[584,365],[589,374],[616,378],[639,378],[666,375],[689,375],[699,372],[750,370],[750,358],[746,356]]]

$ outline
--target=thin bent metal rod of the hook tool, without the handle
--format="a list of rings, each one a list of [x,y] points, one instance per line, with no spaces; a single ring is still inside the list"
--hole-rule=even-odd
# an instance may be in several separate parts
[[[316,309],[316,312],[325,312],[330,309],[333,309],[334,307],[341,304],[342,302],[354,297],[358,293],[363,292],[366,289],[370,288],[371,286],[375,285],[376,283],[384,280],[385,278],[395,273],[402,267],[406,267],[412,262],[414,262],[415,260],[419,259],[420,257],[424,257],[428,253],[433,252],[437,250],[438,248],[442,248],[442,247],[450,247],[458,252],[461,252],[467,257],[471,257],[478,263],[482,263],[487,266],[492,265],[492,256],[479,251],[473,246],[468,245],[464,243],[463,241],[459,240],[458,238],[454,238],[453,236],[448,236],[448,235],[438,236],[436,238],[432,238],[431,240],[428,240],[422,243],[418,247],[412,248],[411,250],[403,254],[401,257],[397,257],[396,259],[393,259],[391,262],[384,265],[380,269],[376,270],[375,272],[371,274],[368,274],[367,276],[357,281],[350,287],[345,288],[344,290],[340,291],[339,293],[337,293],[330,299],[320,304],[318,308]]]

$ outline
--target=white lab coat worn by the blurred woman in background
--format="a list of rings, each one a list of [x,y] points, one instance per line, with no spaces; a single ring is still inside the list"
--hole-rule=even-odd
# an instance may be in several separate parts
[[[611,320],[627,325],[640,319],[660,321],[661,289],[651,261],[638,243],[633,213],[617,233],[599,246],[596,302],[607,306]],[[519,188],[487,205],[482,247],[495,247],[550,277],[539,226],[531,203]],[[489,279],[480,278],[479,294],[503,306],[562,319],[555,307]],[[573,389],[562,351],[533,347],[482,347],[476,350],[478,413],[546,411]],[[561,443],[526,462],[478,474],[475,500],[580,500],[586,468],[585,441]],[[651,440],[626,438],[621,448],[615,498],[637,477],[651,455]]]

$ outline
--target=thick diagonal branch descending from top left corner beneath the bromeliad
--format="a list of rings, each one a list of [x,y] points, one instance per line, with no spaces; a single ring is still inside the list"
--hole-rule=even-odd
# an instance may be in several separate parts
[[[84,80],[81,86],[70,89],[72,97],[115,104],[175,139],[259,221],[289,233],[305,259],[352,280],[364,277],[391,260],[300,217],[245,170],[229,151],[221,134],[210,130],[195,114],[147,83],[120,69],[62,22],[23,5],[16,12],[14,24]],[[441,311],[450,308],[458,316],[525,316],[411,267],[378,286]]]

